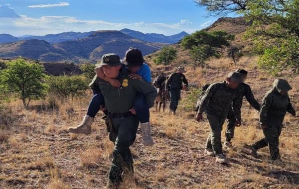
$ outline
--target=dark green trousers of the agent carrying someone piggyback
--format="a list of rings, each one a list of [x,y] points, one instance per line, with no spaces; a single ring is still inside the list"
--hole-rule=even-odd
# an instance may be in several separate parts
[[[139,120],[135,117],[113,118],[113,132],[109,138],[114,142],[113,160],[109,171],[112,183],[122,182],[122,174],[133,175],[133,159],[130,146],[135,142]]]

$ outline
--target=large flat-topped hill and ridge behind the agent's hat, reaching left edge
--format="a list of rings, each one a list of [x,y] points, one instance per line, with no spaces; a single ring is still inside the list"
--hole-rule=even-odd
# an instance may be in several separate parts
[[[159,50],[162,47],[160,44],[142,41],[115,30],[93,31],[89,35],[87,33],[79,33],[78,35],[64,33],[61,35],[74,39],[55,44],[39,39],[27,39],[0,44],[0,58],[21,56],[46,62],[80,62],[86,60],[97,62],[104,54],[111,52],[124,57],[125,51],[132,46],[139,48],[144,55]],[[84,35],[87,36],[79,38],[79,36]],[[11,35],[7,36],[5,34],[5,36],[6,41],[8,39],[15,39]],[[50,35],[48,39],[61,41],[58,34],[56,34],[56,37]]]

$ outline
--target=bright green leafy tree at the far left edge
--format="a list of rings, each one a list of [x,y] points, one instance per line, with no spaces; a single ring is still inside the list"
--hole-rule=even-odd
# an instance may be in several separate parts
[[[2,89],[18,95],[25,107],[31,100],[45,97],[46,85],[43,66],[27,63],[23,59],[8,62],[7,68],[0,73]]]

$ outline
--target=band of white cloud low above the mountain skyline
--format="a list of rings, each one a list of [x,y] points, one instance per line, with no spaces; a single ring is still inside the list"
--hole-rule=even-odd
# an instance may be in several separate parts
[[[20,35],[45,35],[67,31],[86,32],[95,30],[121,30],[130,28],[144,33],[162,33],[173,35],[181,31],[192,33],[198,28],[192,28],[189,20],[180,20],[177,23],[146,23],[144,21],[134,23],[107,22],[104,20],[83,20],[71,16],[42,16],[39,18],[20,15],[20,18],[1,19],[0,33]],[[193,24],[194,25],[194,24]],[[3,26],[3,27],[2,27]]]

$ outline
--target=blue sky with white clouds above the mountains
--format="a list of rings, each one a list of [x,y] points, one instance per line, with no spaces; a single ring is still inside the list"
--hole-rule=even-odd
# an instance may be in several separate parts
[[[0,0],[0,33],[14,36],[129,28],[192,33],[217,18],[193,0]]]

